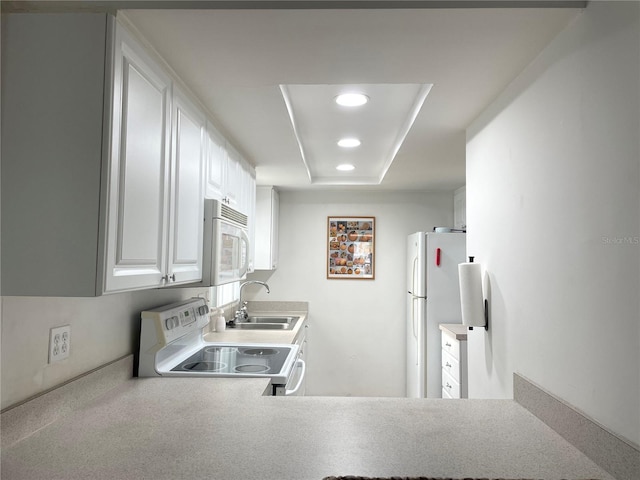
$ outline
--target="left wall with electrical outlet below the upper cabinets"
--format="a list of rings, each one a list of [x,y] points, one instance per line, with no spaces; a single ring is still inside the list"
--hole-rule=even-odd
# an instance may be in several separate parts
[[[2,297],[2,408],[137,352],[142,310],[208,292],[176,288],[97,298]],[[70,355],[48,364],[49,330],[61,325],[71,325]]]

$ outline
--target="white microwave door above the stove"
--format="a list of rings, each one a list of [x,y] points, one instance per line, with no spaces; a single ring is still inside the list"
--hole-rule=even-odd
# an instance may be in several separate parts
[[[244,228],[221,219],[214,220],[212,285],[242,280],[249,265],[249,237]]]

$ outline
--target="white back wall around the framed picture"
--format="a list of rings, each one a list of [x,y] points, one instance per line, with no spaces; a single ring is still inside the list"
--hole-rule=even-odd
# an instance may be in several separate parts
[[[327,217],[376,217],[375,280],[326,278]],[[404,396],[406,236],[453,224],[453,193],[280,193],[280,265],[271,294],[308,301],[307,394]],[[252,295],[254,295],[252,297]]]

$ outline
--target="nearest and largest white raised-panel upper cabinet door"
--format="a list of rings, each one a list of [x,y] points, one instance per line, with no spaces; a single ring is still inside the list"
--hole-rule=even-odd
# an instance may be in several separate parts
[[[166,271],[171,80],[120,25],[113,85],[105,292],[157,286]]]

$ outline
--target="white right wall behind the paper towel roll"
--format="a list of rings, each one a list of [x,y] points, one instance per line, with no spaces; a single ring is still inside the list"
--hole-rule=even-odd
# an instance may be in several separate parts
[[[518,372],[640,443],[640,9],[589,2],[467,132],[491,328],[472,397]]]

